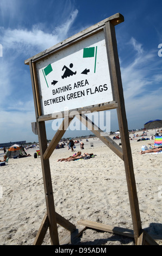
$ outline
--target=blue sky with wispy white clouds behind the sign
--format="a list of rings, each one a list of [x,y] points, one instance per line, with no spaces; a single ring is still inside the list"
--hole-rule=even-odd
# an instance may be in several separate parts
[[[161,0],[1,0],[0,143],[38,141],[31,129],[35,110],[24,60],[116,13],[124,16],[115,28],[128,129],[162,119],[161,9]],[[50,122],[48,139],[54,135]],[[111,111],[110,130],[118,128]],[[84,133],[69,131],[66,137]]]

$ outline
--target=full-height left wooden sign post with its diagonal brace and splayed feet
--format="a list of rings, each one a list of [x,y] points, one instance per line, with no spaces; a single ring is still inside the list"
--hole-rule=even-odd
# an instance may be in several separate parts
[[[67,221],[64,217],[57,214],[57,212],[55,212],[51,170],[49,166],[49,157],[51,156],[53,150],[59,143],[61,137],[64,135],[68,125],[70,124],[70,121],[73,118],[68,118],[68,117],[64,118],[63,123],[59,127],[57,133],[55,133],[55,136],[52,139],[51,143],[49,144],[49,147],[47,147],[45,121],[40,121],[40,122],[38,121],[38,117],[41,115],[41,107],[40,107],[40,101],[39,101],[40,97],[39,97],[38,81],[36,79],[36,67],[35,67],[35,64],[32,63],[32,60],[29,61],[29,66],[30,66],[30,75],[31,75],[33,95],[34,95],[36,128],[37,128],[36,133],[38,133],[38,137],[39,137],[43,185],[45,190],[46,208],[47,208],[47,213],[43,217],[38,234],[35,237],[34,245],[42,244],[48,227],[49,227],[49,234],[51,237],[51,244],[59,245],[57,224],[62,225],[71,233],[73,233],[73,231],[76,230],[76,226],[70,223],[69,221]]]

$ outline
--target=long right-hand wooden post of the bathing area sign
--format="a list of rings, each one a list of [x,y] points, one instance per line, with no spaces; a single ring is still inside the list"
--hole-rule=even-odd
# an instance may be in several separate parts
[[[117,117],[119,121],[119,130],[121,135],[121,144],[122,144],[123,157],[124,157],[124,166],[126,171],[130,210],[132,212],[134,239],[135,239],[135,243],[137,243],[140,230],[141,230],[140,211],[139,211],[139,203],[138,203],[138,197],[136,192],[136,184],[135,184],[135,177],[134,177],[134,170],[133,170],[132,153],[130,149],[126,111],[124,106],[124,97],[123,97],[122,80],[121,80],[121,73],[120,73],[120,63],[119,63],[119,57],[117,53],[115,27],[110,21],[105,23],[105,37],[106,37],[108,57],[109,57],[111,83],[113,84],[113,87],[114,87],[115,101],[118,103]]]

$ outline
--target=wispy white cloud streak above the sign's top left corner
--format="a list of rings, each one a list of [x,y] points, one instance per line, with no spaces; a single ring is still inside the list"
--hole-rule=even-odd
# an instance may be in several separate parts
[[[3,32],[2,45],[4,48],[16,51],[17,54],[29,51],[33,54],[33,48],[37,51],[46,50],[46,48],[57,44],[67,37],[77,14],[78,10],[74,10],[66,23],[56,27],[52,33],[42,31],[39,25],[34,25],[31,30],[23,28],[1,28],[1,33]]]

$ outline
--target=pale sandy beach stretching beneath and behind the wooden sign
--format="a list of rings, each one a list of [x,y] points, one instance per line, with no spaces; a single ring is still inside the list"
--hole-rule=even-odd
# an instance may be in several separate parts
[[[138,133],[138,132],[136,132]],[[141,132],[139,132],[141,133]],[[149,138],[149,131],[146,136]],[[132,135],[133,136],[133,135]],[[111,136],[112,137],[112,136]],[[67,146],[55,149],[51,158],[51,175],[55,210],[77,225],[81,219],[133,229],[123,161],[98,138],[84,142],[82,153],[94,153],[89,160],[57,162],[72,155]],[[162,245],[162,179],[159,154],[140,155],[142,145],[151,141],[130,141],[142,228]],[[90,143],[94,144],[91,147]],[[117,144],[120,140],[116,141]],[[80,150],[76,144],[74,153]],[[32,155],[23,159],[9,159],[0,167],[0,245],[32,245],[46,212],[41,160]],[[3,155],[0,156],[3,159]],[[78,226],[78,225],[77,225]],[[58,225],[59,239],[67,230]],[[134,240],[107,232],[86,229],[74,240],[76,245],[134,245]],[[47,232],[43,245],[50,245]]]

